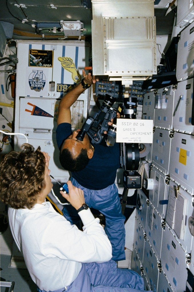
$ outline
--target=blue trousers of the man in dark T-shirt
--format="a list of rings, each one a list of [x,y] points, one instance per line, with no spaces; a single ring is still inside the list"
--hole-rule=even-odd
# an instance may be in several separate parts
[[[74,178],[71,178],[72,184],[84,191],[86,204],[90,208],[99,210],[105,216],[105,233],[112,245],[112,260],[125,259],[125,216],[121,211],[118,189],[115,184],[108,186],[103,190],[89,190],[82,187]],[[71,224],[77,225],[80,229],[80,217],[71,205],[65,205],[63,215]]]

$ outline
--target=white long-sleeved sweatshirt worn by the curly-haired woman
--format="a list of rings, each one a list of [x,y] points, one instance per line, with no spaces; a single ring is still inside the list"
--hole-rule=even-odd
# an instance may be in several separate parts
[[[81,263],[106,262],[112,247],[90,209],[79,216],[83,231],[57,213],[50,202],[32,209],[8,209],[13,238],[24,256],[32,280],[41,290],[53,291],[75,280]]]

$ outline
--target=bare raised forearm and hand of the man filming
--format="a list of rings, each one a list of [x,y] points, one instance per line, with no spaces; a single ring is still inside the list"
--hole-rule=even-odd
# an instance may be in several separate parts
[[[58,109],[58,119],[57,124],[61,123],[70,123],[71,124],[71,111],[70,107],[74,104],[74,102],[78,99],[79,95],[86,90],[87,85],[84,86],[84,84],[88,84],[89,86],[92,85],[92,83],[95,83],[96,80],[95,77],[91,76],[91,73],[86,74],[85,70],[82,70],[82,74],[84,77],[84,80],[78,84],[76,87],[74,87],[71,91],[69,91],[67,94],[65,94],[59,103],[59,109]],[[86,87],[86,88],[84,88]]]

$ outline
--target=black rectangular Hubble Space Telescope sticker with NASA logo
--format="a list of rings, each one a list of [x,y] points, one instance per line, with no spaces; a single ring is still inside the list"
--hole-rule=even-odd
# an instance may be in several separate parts
[[[29,50],[30,67],[53,67],[53,51]]]

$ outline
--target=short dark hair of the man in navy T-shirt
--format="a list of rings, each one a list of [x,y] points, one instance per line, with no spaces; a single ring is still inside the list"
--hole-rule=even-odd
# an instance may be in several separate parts
[[[68,171],[81,171],[89,162],[87,150],[82,148],[79,155],[74,158],[69,149],[63,149],[59,154],[61,166]]]

